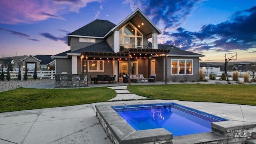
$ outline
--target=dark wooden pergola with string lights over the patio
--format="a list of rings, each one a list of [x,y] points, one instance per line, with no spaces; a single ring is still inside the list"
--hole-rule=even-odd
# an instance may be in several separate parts
[[[128,48],[125,50],[122,50],[120,52],[114,53],[114,52],[82,52],[80,55],[80,58],[82,59],[82,65],[84,65],[84,59],[86,62],[86,74],[88,74],[88,66],[87,66],[87,60],[119,60],[119,59],[125,59],[128,60],[128,74],[129,74],[129,80],[128,84],[131,84],[131,58],[144,58],[150,60],[153,56],[165,56],[165,83],[167,84],[167,57],[168,53],[170,52],[170,49],[149,49],[149,48]],[[84,67],[82,67],[82,72],[84,73]]]

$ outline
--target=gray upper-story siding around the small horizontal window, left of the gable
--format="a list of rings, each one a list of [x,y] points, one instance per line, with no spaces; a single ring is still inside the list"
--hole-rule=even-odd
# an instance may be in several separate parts
[[[96,44],[98,42],[102,42],[104,39],[96,38],[96,42],[79,42],[79,37],[71,37],[71,51],[79,50],[80,48],[84,48],[86,46],[90,46]]]

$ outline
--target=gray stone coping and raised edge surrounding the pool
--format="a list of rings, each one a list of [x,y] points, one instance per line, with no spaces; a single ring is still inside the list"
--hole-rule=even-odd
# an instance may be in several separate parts
[[[164,102],[165,103],[165,102]],[[172,102],[166,102],[172,103]],[[177,102],[174,102],[177,104]],[[159,105],[162,103],[152,103],[152,104],[130,104],[132,106],[136,105]],[[129,106],[130,106],[129,105]],[[180,105],[180,104],[178,104]],[[228,132],[230,130],[236,130],[241,128],[254,128],[256,127],[256,123],[254,122],[243,122],[240,120],[234,120],[234,117],[229,118],[227,115],[224,116],[216,116],[216,114],[210,114],[209,112],[203,112],[200,110],[196,110],[194,108],[190,108],[184,106],[186,108],[192,109],[192,111],[202,112],[205,114],[210,114],[216,116],[218,118],[228,119],[226,121],[221,122],[213,122],[212,132],[200,133],[200,134],[191,134],[186,136],[176,136],[173,137],[171,132],[168,132],[164,128],[150,129],[150,130],[134,130],[132,126],[130,126],[111,106],[124,106],[122,103],[116,104],[104,104],[104,105],[95,105],[96,108],[96,116],[100,123],[102,124],[104,130],[110,137],[110,140],[114,144],[139,144],[139,143],[151,143],[158,142],[161,143],[170,143],[172,144],[172,140],[174,140],[175,144],[184,143],[184,138],[188,138],[191,141],[191,136],[194,137],[194,142],[224,142],[228,144],[230,137],[228,137]],[[183,105],[181,105],[183,106]],[[232,119],[232,120],[230,120]],[[230,123],[231,122],[231,123]],[[200,140],[201,137],[207,137],[204,140]],[[234,136],[233,136],[234,137]],[[231,138],[232,139],[232,138]]]

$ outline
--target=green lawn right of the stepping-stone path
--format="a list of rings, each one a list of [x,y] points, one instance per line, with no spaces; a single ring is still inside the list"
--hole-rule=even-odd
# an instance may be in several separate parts
[[[151,99],[221,102],[256,106],[256,85],[168,84],[132,85],[128,90]]]

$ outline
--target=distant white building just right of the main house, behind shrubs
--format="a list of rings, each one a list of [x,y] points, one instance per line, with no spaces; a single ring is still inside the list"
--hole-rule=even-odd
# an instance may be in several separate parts
[[[220,66],[215,66],[213,64],[208,64],[200,62],[200,69],[204,71],[204,74],[218,75],[220,73]]]

